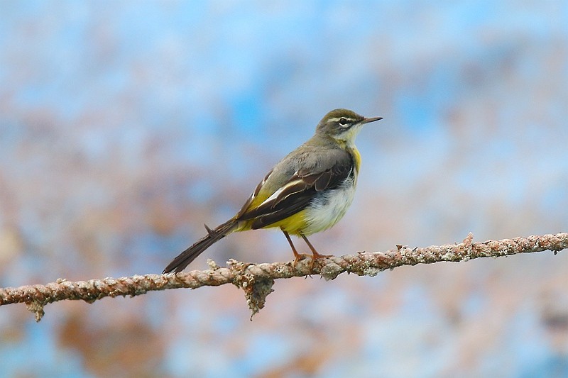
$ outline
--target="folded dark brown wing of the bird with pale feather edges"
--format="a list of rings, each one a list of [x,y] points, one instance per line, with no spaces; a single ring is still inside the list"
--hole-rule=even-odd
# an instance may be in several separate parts
[[[322,166],[322,160],[316,159],[315,161],[320,163],[319,166],[298,169],[288,182],[283,184],[283,189],[276,196],[267,199],[256,209],[240,213],[238,219],[252,219],[253,229],[270,226],[305,209],[318,191],[336,189],[354,169],[351,156],[342,150],[338,152],[340,153],[337,158],[327,160],[327,165]]]

